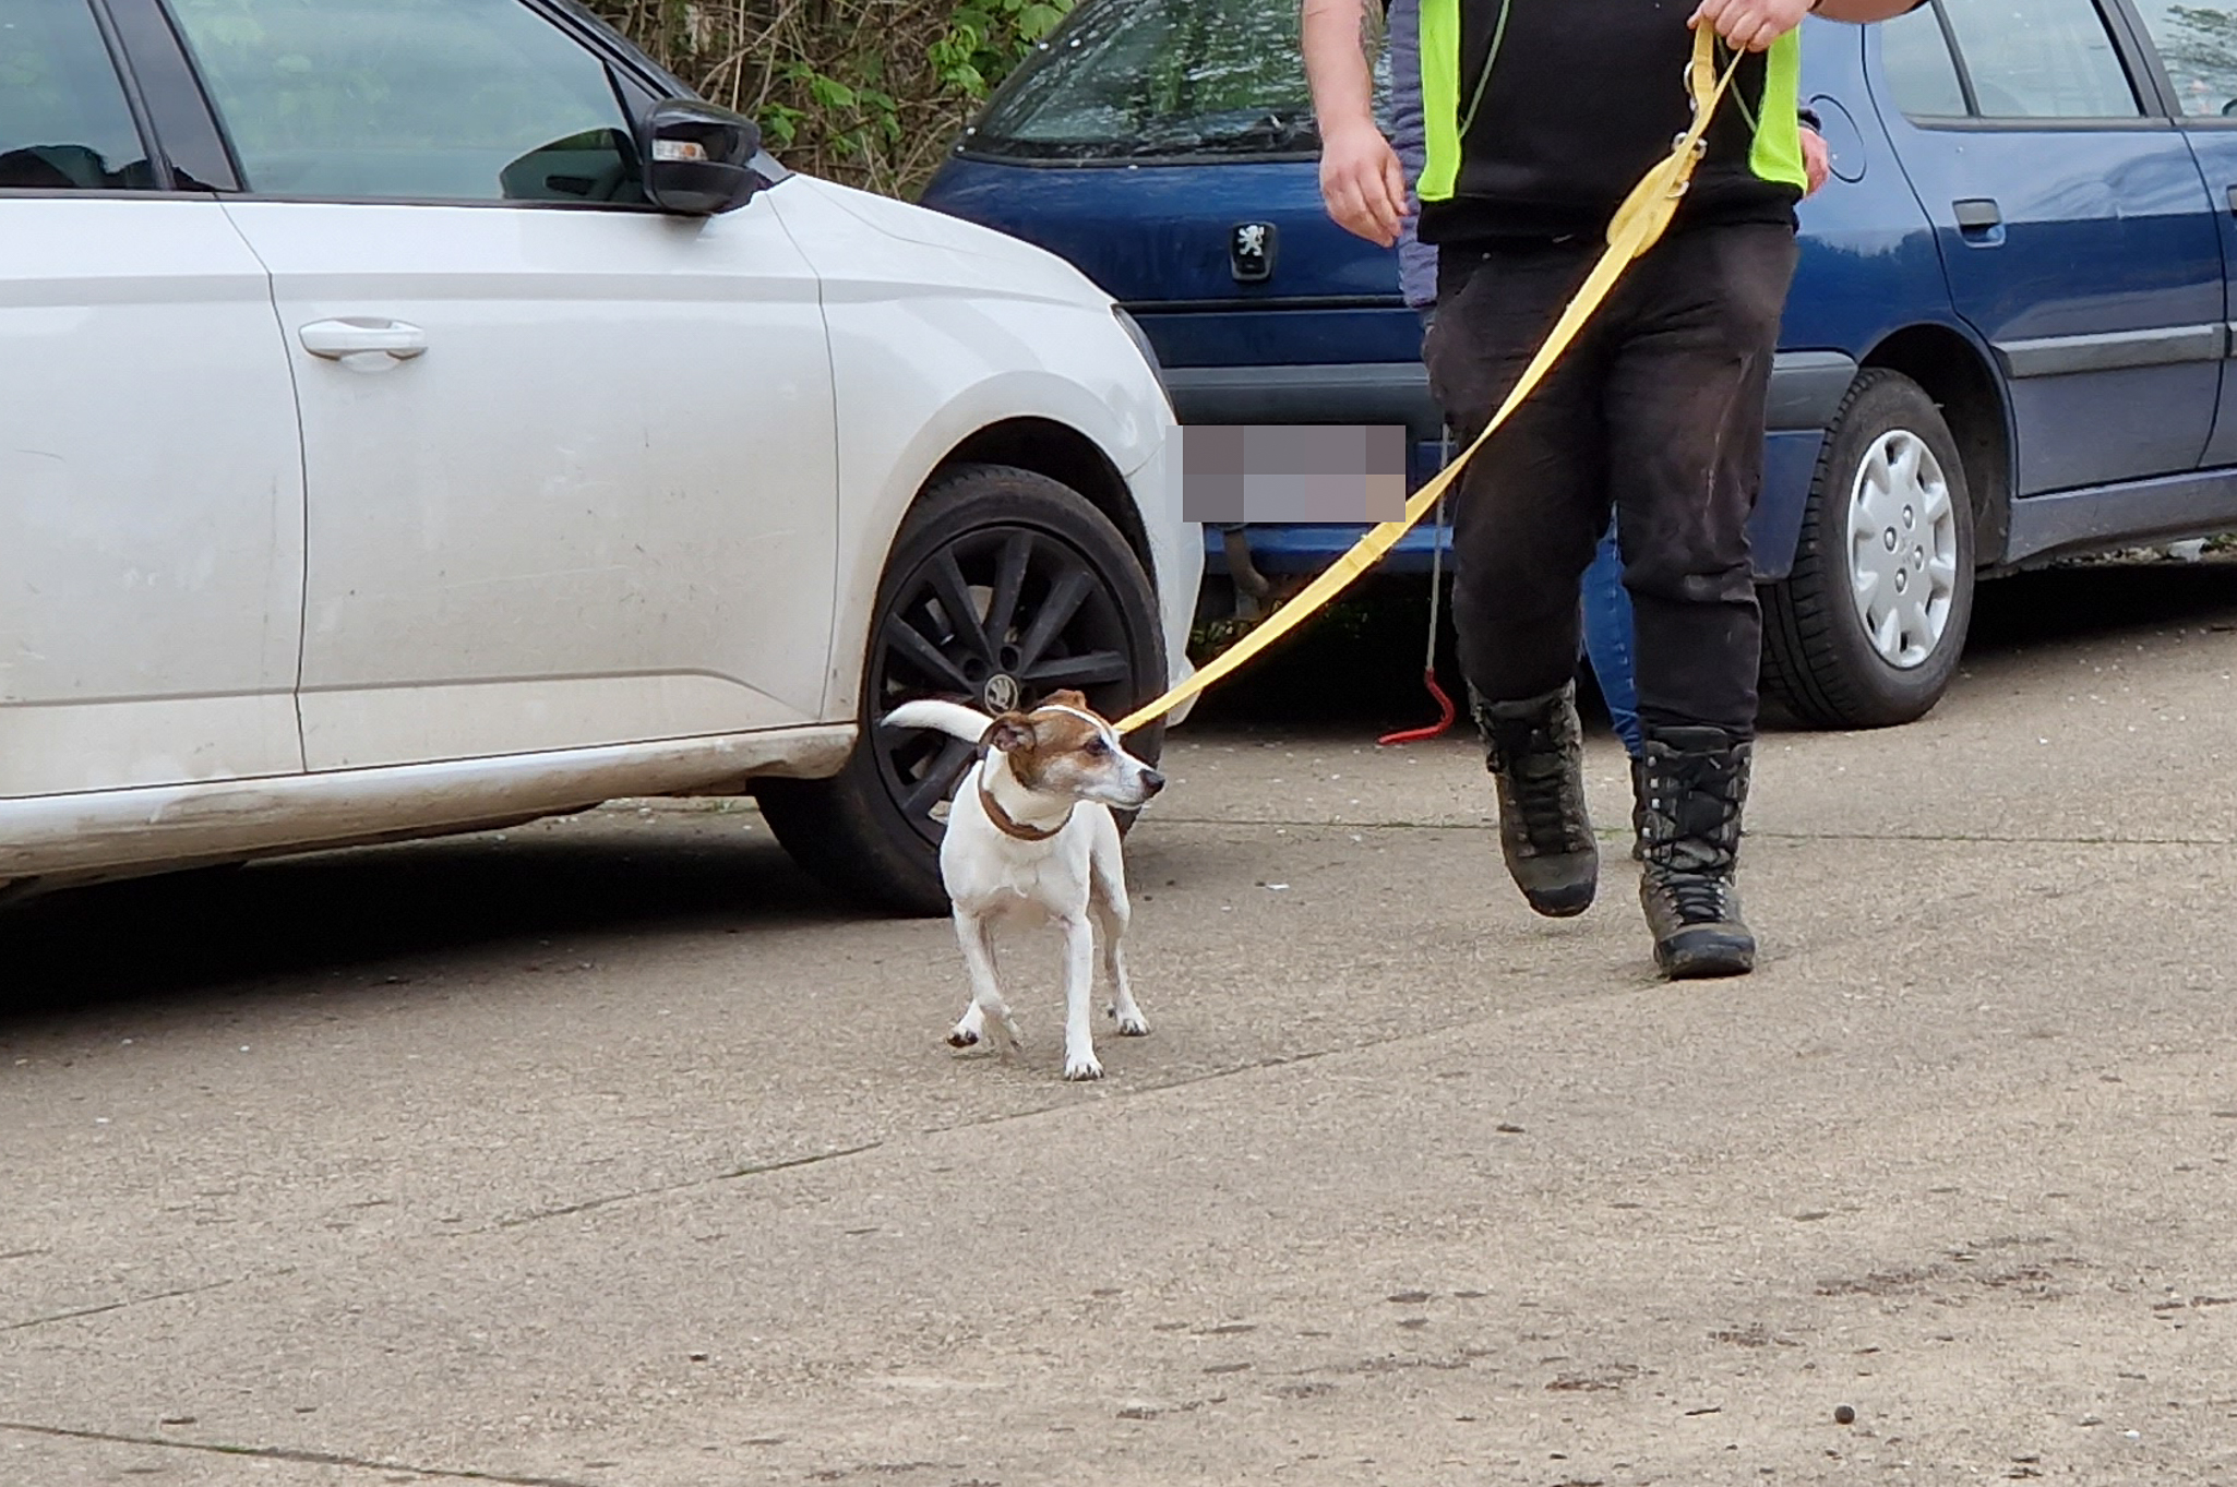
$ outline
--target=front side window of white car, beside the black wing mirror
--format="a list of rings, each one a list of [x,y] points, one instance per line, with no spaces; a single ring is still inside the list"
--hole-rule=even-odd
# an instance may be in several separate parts
[[[644,201],[604,63],[519,0],[174,0],[262,195]]]

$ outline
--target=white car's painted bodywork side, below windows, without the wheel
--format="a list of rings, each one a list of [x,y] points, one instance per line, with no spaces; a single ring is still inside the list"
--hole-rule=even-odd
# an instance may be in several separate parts
[[[1186,675],[1170,405],[1038,248],[808,177],[707,221],[58,197],[0,228],[0,883],[832,774],[910,501],[1016,418],[1125,481]],[[425,351],[313,356],[336,320]]]

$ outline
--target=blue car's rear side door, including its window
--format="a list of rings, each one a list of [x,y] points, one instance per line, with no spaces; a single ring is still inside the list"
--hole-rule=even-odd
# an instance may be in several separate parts
[[[2125,40],[2092,0],[1881,27],[1881,114],[2002,360],[2020,496],[2194,470],[2221,396],[2215,208]]]

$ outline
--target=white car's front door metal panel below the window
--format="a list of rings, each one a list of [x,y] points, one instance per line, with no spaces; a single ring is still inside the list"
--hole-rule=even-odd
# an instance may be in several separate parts
[[[767,201],[226,210],[293,342],[311,769],[819,718],[830,356]],[[331,320],[427,349],[309,353]]]

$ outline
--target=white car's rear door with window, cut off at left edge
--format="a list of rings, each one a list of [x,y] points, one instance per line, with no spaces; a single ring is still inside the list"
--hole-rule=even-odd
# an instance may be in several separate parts
[[[0,796],[302,771],[271,284],[121,76],[87,0],[0,0]]]

